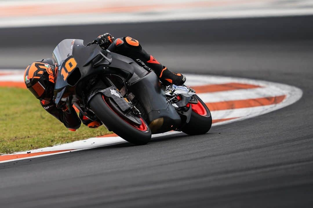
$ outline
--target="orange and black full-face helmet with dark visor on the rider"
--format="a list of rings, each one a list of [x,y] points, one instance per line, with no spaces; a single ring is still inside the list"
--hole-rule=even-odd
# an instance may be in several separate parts
[[[37,99],[51,100],[54,90],[53,61],[43,59],[30,64],[24,72],[24,82]]]

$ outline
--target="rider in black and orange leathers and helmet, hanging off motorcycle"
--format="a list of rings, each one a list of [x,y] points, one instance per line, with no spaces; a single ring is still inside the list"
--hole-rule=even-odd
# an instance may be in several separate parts
[[[171,72],[152,55],[148,54],[134,38],[123,37],[115,39],[110,33],[105,33],[98,36],[91,43],[98,44],[104,50],[130,57],[142,67],[153,70],[164,85],[182,85],[186,81],[184,75]],[[67,109],[56,107],[53,101],[54,71],[55,67],[52,59],[42,59],[33,62],[24,72],[26,87],[40,100],[42,107],[64,123],[69,130],[76,131],[80,127],[81,121],[89,128],[98,128],[102,124],[100,120],[92,121],[81,113],[79,114],[79,119],[73,107],[71,107],[71,113],[68,113]]]

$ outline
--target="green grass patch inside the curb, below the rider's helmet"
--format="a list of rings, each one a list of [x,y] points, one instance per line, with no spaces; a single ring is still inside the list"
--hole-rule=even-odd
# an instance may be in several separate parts
[[[110,133],[84,124],[75,132],[46,112],[27,89],[0,87],[0,154],[50,147]]]

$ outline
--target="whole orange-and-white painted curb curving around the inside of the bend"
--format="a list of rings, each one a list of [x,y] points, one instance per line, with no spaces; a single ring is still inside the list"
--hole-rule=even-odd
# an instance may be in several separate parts
[[[0,77],[0,86],[25,88],[23,79],[20,79],[20,74],[17,72],[19,71],[8,75],[6,71],[1,71],[3,76]],[[274,82],[212,75],[201,75],[201,80],[199,75],[189,75],[188,77],[190,79],[187,85],[194,86],[193,88],[197,90],[198,96],[211,110],[213,126],[252,118],[283,108],[296,102],[302,96],[301,89]],[[20,82],[18,82],[19,80]],[[171,131],[152,135],[152,138],[177,133],[179,132]],[[126,143],[126,141],[116,134],[108,134],[73,143],[31,150],[32,153],[24,151],[2,155],[0,156],[0,163],[80,151],[117,143]]]

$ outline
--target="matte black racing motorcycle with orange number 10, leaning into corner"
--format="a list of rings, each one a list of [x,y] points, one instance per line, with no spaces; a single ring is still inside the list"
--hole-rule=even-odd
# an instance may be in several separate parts
[[[55,104],[67,111],[74,104],[130,143],[146,144],[151,134],[171,130],[196,135],[211,128],[211,113],[192,88],[162,86],[153,71],[126,56],[65,39],[53,58]]]

